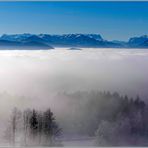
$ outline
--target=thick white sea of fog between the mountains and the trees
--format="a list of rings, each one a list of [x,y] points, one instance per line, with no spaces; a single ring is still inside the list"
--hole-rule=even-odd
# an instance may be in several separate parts
[[[1,117],[14,106],[58,108],[64,102],[55,102],[53,95],[83,90],[148,99],[148,50],[0,51]]]

